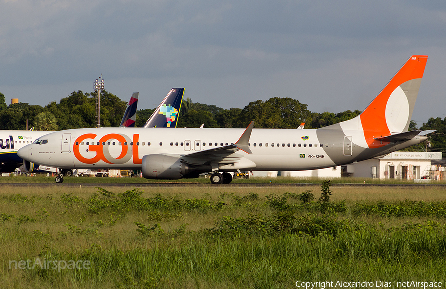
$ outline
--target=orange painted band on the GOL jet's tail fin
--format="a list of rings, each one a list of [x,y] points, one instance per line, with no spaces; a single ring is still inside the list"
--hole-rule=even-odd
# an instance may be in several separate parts
[[[416,57],[416,59],[414,58]],[[374,137],[388,136],[390,130],[386,123],[386,105],[390,95],[401,84],[411,79],[422,78],[427,56],[413,55],[390,80],[386,87],[375,97],[369,106],[361,113],[361,123],[364,137],[369,148],[377,148],[389,142],[376,141]]]

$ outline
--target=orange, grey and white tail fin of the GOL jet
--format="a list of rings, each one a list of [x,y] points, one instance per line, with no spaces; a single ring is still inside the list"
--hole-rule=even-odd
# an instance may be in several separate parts
[[[411,56],[369,106],[359,116],[341,122],[341,128],[364,131],[369,148],[385,145],[380,137],[407,132],[427,58]]]

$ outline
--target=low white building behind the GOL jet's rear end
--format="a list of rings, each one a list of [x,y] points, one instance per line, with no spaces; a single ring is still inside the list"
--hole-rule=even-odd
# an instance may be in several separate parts
[[[441,152],[395,151],[378,159],[344,166],[344,175],[400,180],[432,178],[431,160],[439,159],[442,159]]]

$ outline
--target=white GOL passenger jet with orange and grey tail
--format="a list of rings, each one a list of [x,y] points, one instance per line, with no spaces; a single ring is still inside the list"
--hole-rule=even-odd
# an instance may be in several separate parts
[[[427,56],[411,56],[359,116],[320,129],[253,129],[253,123],[246,129],[72,129],[40,137],[18,155],[25,164],[60,168],[141,169],[149,179],[212,172],[213,184],[230,183],[235,171],[349,164],[427,139],[433,130],[408,131],[426,62]]]

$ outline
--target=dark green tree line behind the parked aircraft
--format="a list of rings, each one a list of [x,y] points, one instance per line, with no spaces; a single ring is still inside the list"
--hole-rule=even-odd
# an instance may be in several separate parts
[[[34,127],[35,130],[66,130],[73,128],[95,127],[95,97],[96,93],[74,91],[59,103],[50,102],[46,106],[15,103],[9,106],[0,93],[0,129],[25,130]],[[125,108],[122,101],[114,94],[101,93],[101,126],[118,127]],[[142,127],[152,115],[153,109],[139,109],[136,113],[136,127]],[[207,128],[246,128],[251,121],[256,128],[297,128],[305,123],[305,128],[316,129],[332,125],[356,117],[360,110],[346,110],[339,113],[311,112],[307,105],[289,97],[272,97],[266,101],[252,101],[241,108],[223,109],[215,105],[194,103],[190,98],[183,100],[177,127]],[[411,121],[409,129],[417,129]],[[422,130],[436,129],[430,134],[431,151],[446,152],[446,118],[430,118],[419,128]],[[411,150],[422,150],[424,145],[416,145]]]

